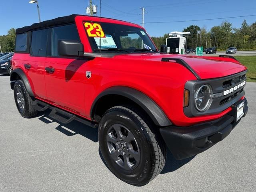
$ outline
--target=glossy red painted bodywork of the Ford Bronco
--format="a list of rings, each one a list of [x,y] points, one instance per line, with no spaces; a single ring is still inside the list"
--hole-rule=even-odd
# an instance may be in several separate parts
[[[77,16],[75,21],[84,44],[85,52],[92,52],[83,21],[99,22],[99,18]],[[102,18],[101,22],[136,24]],[[141,28],[141,27],[140,27]],[[161,62],[163,57],[182,58],[202,79],[228,76],[246,70],[246,67],[230,58],[196,57],[158,53],[122,54],[113,58],[97,57],[92,60],[34,57],[29,54],[14,54],[13,69],[21,68],[26,73],[36,98],[64,110],[90,119],[90,110],[96,97],[107,88],[127,86],[150,97],[176,126],[190,126],[215,120],[228,113],[189,118],[183,112],[184,85],[196,77],[184,66],[175,62]],[[30,63],[31,69],[24,69]],[[55,68],[53,74],[44,67]],[[91,71],[91,78],[86,78]]]

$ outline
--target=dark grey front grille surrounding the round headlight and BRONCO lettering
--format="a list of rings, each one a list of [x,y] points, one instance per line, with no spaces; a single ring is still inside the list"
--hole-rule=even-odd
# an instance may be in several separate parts
[[[184,114],[186,114],[188,117],[218,114],[232,106],[234,103],[240,100],[242,96],[244,96],[244,86],[226,95],[224,95],[224,91],[230,90],[244,82],[246,80],[246,72],[247,70],[221,78],[214,78],[210,80],[193,80],[186,82],[185,89],[190,90],[190,105],[184,108]],[[223,95],[214,98],[210,108],[207,111],[198,112],[194,106],[193,98],[196,90],[198,90],[198,88],[204,84],[210,84],[210,86],[212,86],[213,94],[223,93]]]

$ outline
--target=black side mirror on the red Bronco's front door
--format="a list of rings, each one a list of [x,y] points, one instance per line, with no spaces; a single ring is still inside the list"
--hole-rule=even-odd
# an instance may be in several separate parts
[[[58,54],[61,56],[78,57],[84,55],[84,45],[74,40],[59,40]]]

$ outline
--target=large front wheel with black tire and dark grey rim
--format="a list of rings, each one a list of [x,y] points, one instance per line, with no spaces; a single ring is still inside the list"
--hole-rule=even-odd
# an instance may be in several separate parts
[[[151,120],[135,111],[124,106],[106,111],[98,139],[110,171],[128,184],[143,186],[164,168],[166,146]]]

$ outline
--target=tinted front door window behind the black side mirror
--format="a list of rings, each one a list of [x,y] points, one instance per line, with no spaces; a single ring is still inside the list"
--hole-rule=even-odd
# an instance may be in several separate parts
[[[80,38],[75,24],[58,26],[52,28],[51,56],[59,56],[58,41],[59,40],[76,40],[80,42]]]

